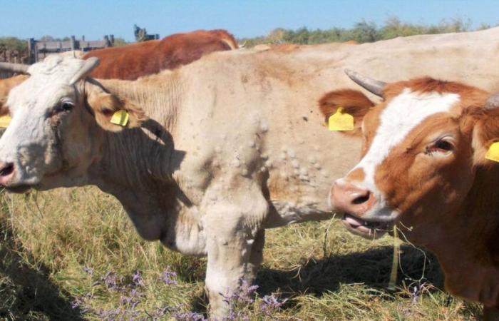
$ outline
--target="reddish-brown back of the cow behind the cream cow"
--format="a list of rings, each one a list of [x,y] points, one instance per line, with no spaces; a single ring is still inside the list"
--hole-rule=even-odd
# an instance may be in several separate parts
[[[237,49],[237,42],[227,31],[197,30],[173,34],[161,40],[98,49],[88,52],[83,58],[97,57],[101,61],[90,75],[93,78],[135,80],[186,65],[213,51],[232,49]]]

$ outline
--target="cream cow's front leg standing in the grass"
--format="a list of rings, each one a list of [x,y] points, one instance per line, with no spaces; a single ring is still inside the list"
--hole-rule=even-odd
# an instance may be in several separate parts
[[[217,320],[222,320],[229,311],[225,298],[239,291],[242,282],[251,284],[262,263],[264,230],[262,220],[255,218],[265,215],[254,211],[255,207],[252,210],[252,213],[244,213],[240,207],[219,204],[217,213],[210,213],[205,220],[205,292],[210,300],[210,316]]]

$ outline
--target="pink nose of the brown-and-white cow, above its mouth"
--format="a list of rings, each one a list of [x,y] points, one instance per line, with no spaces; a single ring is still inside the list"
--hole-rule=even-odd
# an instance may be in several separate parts
[[[370,190],[359,188],[352,183],[334,183],[331,188],[331,204],[341,210],[361,217],[376,203],[376,197]]]

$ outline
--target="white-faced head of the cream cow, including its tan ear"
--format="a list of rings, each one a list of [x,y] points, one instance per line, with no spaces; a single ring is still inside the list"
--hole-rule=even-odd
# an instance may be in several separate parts
[[[104,131],[115,111],[128,112],[125,127],[145,119],[137,106],[86,78],[98,59],[49,56],[28,69],[9,93],[11,123],[0,139],[0,185],[12,191],[80,185],[101,155]]]

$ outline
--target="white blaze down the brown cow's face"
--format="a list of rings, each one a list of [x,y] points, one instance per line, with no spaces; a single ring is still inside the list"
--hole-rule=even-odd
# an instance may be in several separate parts
[[[379,116],[379,127],[369,151],[353,169],[364,170],[364,182],[360,185],[371,190],[376,199],[383,203],[383,195],[374,181],[376,167],[423,120],[436,113],[450,111],[459,98],[457,93],[418,93],[409,88],[393,98]]]

